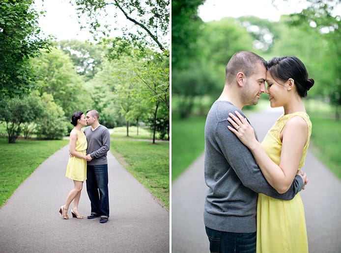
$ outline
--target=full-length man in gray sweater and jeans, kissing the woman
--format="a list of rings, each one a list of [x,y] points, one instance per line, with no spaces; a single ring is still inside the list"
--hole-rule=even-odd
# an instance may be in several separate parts
[[[100,223],[109,219],[108,160],[110,133],[107,127],[99,124],[96,110],[86,112],[84,133],[87,140],[86,191],[91,202],[88,219],[100,218]]]

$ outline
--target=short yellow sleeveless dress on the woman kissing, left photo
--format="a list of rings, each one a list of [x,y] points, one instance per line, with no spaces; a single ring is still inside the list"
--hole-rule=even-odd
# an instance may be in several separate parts
[[[78,131],[76,129],[72,129],[71,132],[74,131],[77,133],[77,141],[76,141],[76,152],[86,155],[86,147],[87,141],[83,131]],[[66,175],[65,177],[69,177],[72,180],[76,181],[84,181],[86,179],[86,161],[85,159],[78,157],[69,157],[69,161],[66,167]]]

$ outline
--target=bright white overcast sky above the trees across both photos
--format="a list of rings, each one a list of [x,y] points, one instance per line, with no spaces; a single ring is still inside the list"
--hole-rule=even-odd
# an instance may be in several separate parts
[[[42,4],[43,2],[43,4]],[[199,7],[199,16],[204,22],[220,20],[224,17],[240,17],[253,15],[259,18],[278,21],[282,14],[300,12],[306,7],[304,0],[276,1],[280,2],[276,9],[271,0],[206,0]],[[86,30],[81,30],[78,24],[75,7],[69,0],[36,0],[37,10],[45,10],[39,25],[45,34],[52,34],[57,40],[78,39],[85,41],[91,38]],[[341,6],[336,12],[341,15]],[[121,22],[126,22],[121,16]],[[113,32],[113,35],[120,35]]]

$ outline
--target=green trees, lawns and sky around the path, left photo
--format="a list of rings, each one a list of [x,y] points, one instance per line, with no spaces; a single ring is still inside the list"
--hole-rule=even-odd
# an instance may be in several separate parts
[[[68,144],[72,113],[96,109],[116,159],[169,210],[169,1],[3,0],[0,10],[0,206]],[[49,15],[63,39],[41,28]]]

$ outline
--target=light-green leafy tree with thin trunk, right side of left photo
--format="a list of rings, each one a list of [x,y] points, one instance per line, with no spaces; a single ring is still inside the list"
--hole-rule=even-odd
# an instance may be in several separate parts
[[[120,69],[116,74],[117,77],[124,78],[122,91],[124,92],[124,89],[130,90],[128,94],[123,93],[121,96],[133,103],[133,106],[130,105],[129,108],[125,107],[125,114],[130,119],[133,115],[136,118],[138,113],[143,114],[142,104],[149,107],[146,111],[153,118],[153,143],[155,143],[157,117],[161,114],[158,113],[158,109],[162,106],[168,109],[168,113],[164,117],[166,122],[168,119],[169,123],[170,81],[168,56],[164,52],[158,53],[147,49],[140,51],[130,48],[128,52],[118,59],[113,59],[113,63],[120,66],[117,66],[117,69]]]

